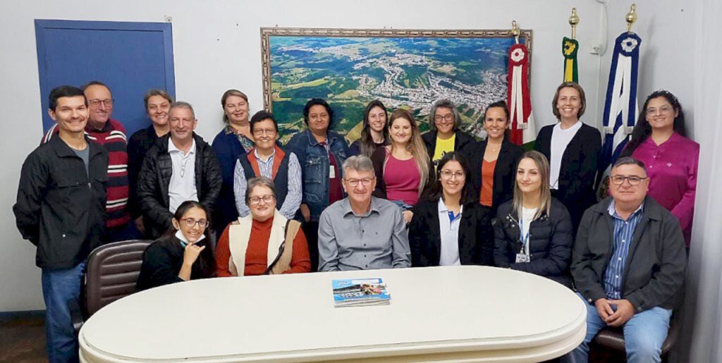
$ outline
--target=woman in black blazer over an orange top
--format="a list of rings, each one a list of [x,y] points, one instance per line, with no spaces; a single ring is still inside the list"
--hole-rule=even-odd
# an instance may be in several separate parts
[[[490,207],[492,215],[500,204],[511,199],[516,163],[524,152],[521,146],[509,141],[508,122],[509,108],[506,102],[498,101],[488,105],[484,111],[487,139],[469,144],[463,151],[471,167],[469,181],[474,200]],[[491,178],[484,178],[484,174],[491,175]],[[487,181],[491,183],[491,188],[485,183]]]

